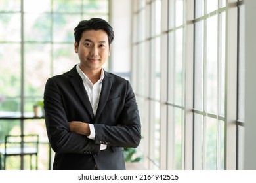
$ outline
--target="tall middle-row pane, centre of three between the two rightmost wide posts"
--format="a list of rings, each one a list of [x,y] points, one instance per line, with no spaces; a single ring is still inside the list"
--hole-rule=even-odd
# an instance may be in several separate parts
[[[217,113],[218,100],[218,24],[217,16],[207,20],[207,112]]]

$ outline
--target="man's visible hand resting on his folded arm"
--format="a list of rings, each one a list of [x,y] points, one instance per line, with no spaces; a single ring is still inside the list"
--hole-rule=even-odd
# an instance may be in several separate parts
[[[74,133],[78,133],[81,135],[87,135],[89,136],[91,134],[89,124],[78,122],[78,121],[72,121],[68,122],[70,125],[70,131]]]

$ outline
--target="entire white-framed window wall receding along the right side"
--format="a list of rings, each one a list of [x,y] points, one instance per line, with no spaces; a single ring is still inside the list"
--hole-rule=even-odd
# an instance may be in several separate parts
[[[136,2],[133,82],[146,167],[242,169],[243,1]]]

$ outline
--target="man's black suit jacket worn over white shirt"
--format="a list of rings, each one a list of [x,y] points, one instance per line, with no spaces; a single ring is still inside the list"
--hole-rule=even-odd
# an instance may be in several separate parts
[[[129,82],[104,71],[95,116],[74,67],[47,80],[44,93],[45,123],[55,154],[53,169],[125,169],[123,147],[139,146],[140,118]],[[70,132],[68,122],[95,126],[95,140]],[[100,150],[106,144],[106,150]]]

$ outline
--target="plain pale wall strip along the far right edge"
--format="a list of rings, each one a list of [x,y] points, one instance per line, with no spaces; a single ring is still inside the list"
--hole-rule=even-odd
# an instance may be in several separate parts
[[[245,164],[244,169],[256,169],[256,1],[245,1]]]

